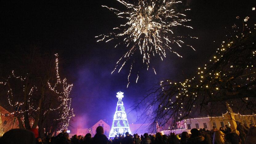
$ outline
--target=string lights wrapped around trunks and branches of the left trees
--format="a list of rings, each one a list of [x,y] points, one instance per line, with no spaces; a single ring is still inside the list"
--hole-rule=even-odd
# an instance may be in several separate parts
[[[58,101],[59,105],[55,108],[49,107],[48,110],[58,112],[58,114],[60,115],[60,118],[57,118],[55,120],[62,122],[62,126],[59,129],[59,131],[62,131],[63,129],[67,129],[67,127],[69,126],[69,123],[70,123],[70,119],[75,116],[73,113],[73,109],[71,109],[71,98],[70,98],[70,91],[73,87],[73,84],[68,84],[66,82],[67,81],[66,78],[61,80],[61,78],[59,76],[59,71],[58,71],[59,70],[58,54],[55,54],[55,56],[56,56],[55,71],[56,71],[57,81],[54,83],[54,86],[52,86],[51,83],[48,81],[48,85],[49,85],[49,89],[55,93],[54,95],[58,95],[57,101]],[[21,82],[24,82],[24,80],[26,80],[26,77],[15,76],[14,71],[12,71],[12,74],[10,74],[8,79],[6,79],[6,82],[0,82],[0,84],[8,85],[8,82],[10,81],[11,78],[18,79]],[[23,85],[23,87],[25,87],[25,85]],[[60,90],[60,91],[58,91],[58,90]],[[35,113],[36,111],[39,110],[39,107],[35,104],[34,99],[31,98],[34,91],[37,91],[36,86],[32,86],[32,88],[30,89],[30,92],[28,94],[29,98],[27,100],[27,104],[28,104],[29,108],[27,110],[18,111],[19,114],[23,114],[24,112],[28,112],[29,114],[31,114],[31,113]],[[23,89],[23,92],[24,92],[24,89]],[[17,106],[22,106],[24,104],[24,102],[17,102],[17,101],[13,102],[13,99],[15,99],[15,95],[13,95],[11,88],[9,88],[9,90],[7,92],[7,97],[8,97],[8,102],[9,102],[10,106],[12,106],[14,108]],[[44,114],[46,114],[46,112],[48,110],[46,110],[44,112]],[[6,117],[8,117],[8,116],[14,115],[15,113],[16,112],[11,112],[11,113],[6,113],[6,114],[2,114],[2,115],[5,115]],[[24,116],[22,117],[21,120],[24,123]],[[33,122],[33,121],[31,121],[31,122]]]

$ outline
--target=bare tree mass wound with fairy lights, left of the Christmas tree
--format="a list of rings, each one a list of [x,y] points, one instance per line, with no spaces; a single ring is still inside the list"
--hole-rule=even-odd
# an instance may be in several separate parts
[[[24,56],[25,55],[25,56]],[[2,99],[10,117],[15,117],[19,128],[38,128],[41,137],[67,129],[74,117],[70,91],[73,84],[61,79],[58,54],[44,54],[34,48],[24,54],[21,67],[11,67],[11,74],[0,77]],[[16,55],[15,55],[16,56]],[[13,110],[20,106],[18,115]]]

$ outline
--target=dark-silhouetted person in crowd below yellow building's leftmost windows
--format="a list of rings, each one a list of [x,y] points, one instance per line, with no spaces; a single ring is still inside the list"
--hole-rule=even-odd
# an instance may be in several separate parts
[[[198,129],[192,129],[190,130],[191,136],[187,140],[187,144],[206,144],[205,138],[200,135],[200,132]]]

